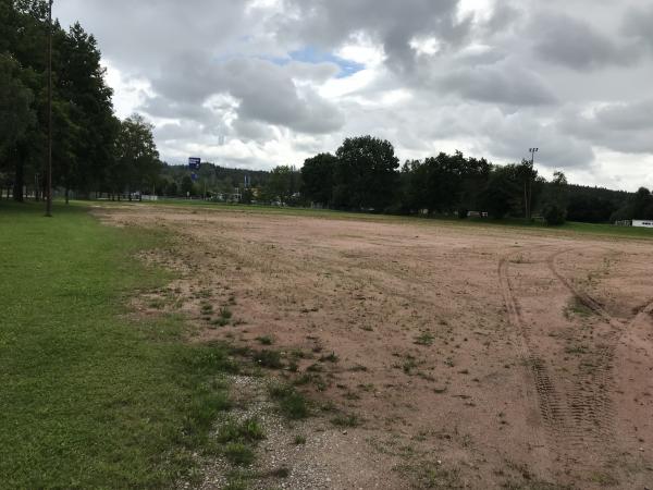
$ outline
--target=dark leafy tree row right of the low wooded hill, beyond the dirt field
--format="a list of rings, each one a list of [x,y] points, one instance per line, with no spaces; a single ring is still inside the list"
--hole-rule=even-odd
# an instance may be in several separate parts
[[[531,161],[496,166],[459,151],[399,166],[392,144],[371,136],[345,139],[335,155],[307,159],[301,177],[305,200],[335,209],[528,220],[537,215],[550,224],[649,219],[653,212],[645,188],[632,195],[570,185],[563,172],[546,181]]]

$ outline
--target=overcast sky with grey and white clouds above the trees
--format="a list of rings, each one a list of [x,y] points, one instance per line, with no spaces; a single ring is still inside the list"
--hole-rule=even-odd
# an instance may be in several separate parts
[[[346,136],[402,160],[540,147],[545,175],[653,186],[651,0],[57,0],[162,158],[301,166]]]

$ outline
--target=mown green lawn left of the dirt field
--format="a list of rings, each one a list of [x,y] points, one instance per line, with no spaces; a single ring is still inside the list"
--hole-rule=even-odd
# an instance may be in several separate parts
[[[134,258],[162,240],[82,206],[0,203],[3,488],[161,488],[194,468],[237,366],[184,343],[180,317],[127,315],[170,279]]]

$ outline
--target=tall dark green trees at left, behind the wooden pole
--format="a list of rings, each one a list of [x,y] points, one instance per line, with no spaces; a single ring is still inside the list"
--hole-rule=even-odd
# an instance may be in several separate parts
[[[45,194],[49,29],[47,1],[0,0],[0,189],[19,201]],[[160,173],[152,126],[114,115],[96,38],[58,21],[51,34],[53,186],[67,199],[151,185]]]

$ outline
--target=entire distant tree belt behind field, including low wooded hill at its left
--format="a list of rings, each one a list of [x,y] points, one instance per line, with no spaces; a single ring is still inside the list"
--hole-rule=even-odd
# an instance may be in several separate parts
[[[456,151],[401,164],[393,145],[372,136],[347,138],[335,154],[308,158],[300,170],[279,166],[270,172],[248,171],[205,163],[198,182],[188,174],[183,167],[165,166],[163,194],[171,189],[167,195],[215,199],[238,188],[245,204],[460,218],[539,217],[551,224],[567,219],[648,219],[648,199],[653,199],[644,188],[631,194],[572,185],[563,172],[547,181],[528,160],[496,166]]]

